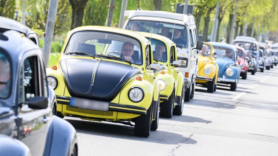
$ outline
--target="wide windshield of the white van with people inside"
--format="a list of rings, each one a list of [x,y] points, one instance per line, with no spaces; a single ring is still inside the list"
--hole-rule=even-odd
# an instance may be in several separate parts
[[[177,46],[187,47],[187,29],[184,25],[158,21],[130,20],[125,29],[159,34],[173,40]]]

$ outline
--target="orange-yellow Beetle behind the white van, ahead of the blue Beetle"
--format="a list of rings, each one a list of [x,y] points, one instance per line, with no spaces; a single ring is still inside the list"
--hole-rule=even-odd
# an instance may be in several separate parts
[[[199,53],[198,75],[196,84],[202,84],[207,87],[209,93],[213,93],[217,88],[219,67],[216,59],[213,57],[213,47],[211,44],[204,42],[203,48]]]

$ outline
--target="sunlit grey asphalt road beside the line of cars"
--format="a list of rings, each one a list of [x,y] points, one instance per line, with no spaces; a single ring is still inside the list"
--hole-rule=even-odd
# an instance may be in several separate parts
[[[248,73],[235,92],[196,87],[182,116],[160,118],[149,137],[111,122],[65,117],[76,129],[79,156],[278,156],[278,66]]]

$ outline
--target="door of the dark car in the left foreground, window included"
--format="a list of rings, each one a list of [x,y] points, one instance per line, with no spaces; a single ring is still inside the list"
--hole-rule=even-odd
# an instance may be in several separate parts
[[[34,50],[36,51],[36,50]],[[39,50],[38,50],[39,51]],[[18,79],[17,135],[34,156],[43,156],[51,119],[51,108],[31,109],[26,104],[31,97],[47,98],[47,83],[42,59],[36,55],[24,57],[20,63]]]

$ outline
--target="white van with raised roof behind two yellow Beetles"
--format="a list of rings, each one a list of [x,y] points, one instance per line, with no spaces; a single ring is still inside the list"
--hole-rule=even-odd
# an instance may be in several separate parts
[[[172,39],[177,46],[177,56],[183,64],[179,71],[185,78],[185,101],[194,97],[198,73],[198,53],[203,42],[197,39],[194,17],[165,11],[126,10],[123,28],[159,34]]]

